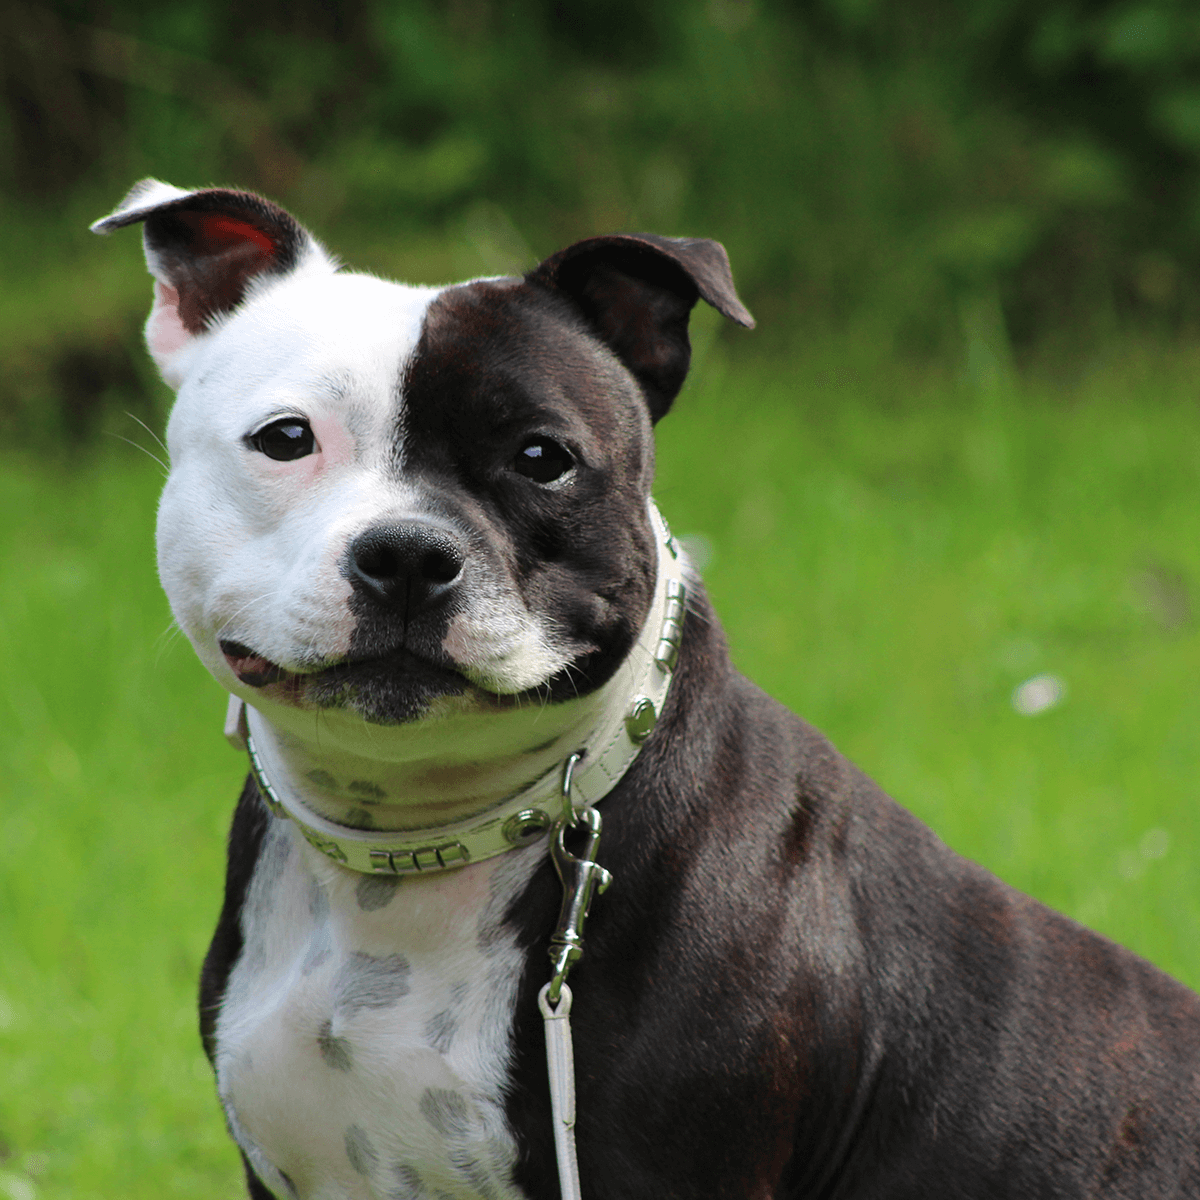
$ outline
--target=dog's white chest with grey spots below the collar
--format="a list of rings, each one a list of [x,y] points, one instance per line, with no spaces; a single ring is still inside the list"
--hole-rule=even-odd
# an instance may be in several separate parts
[[[503,1088],[523,959],[500,917],[539,853],[397,882],[328,865],[271,821],[217,1084],[281,1196],[517,1200]]]

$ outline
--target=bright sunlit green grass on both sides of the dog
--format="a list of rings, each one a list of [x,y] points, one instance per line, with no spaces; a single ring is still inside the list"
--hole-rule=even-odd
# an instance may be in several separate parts
[[[1198,368],[980,396],[846,347],[710,354],[656,490],[710,545],[749,674],[953,846],[1193,985]],[[0,461],[12,1200],[241,1194],[193,1007],[242,764],[169,632],[160,478],[121,449]],[[1021,716],[1039,672],[1067,697]]]

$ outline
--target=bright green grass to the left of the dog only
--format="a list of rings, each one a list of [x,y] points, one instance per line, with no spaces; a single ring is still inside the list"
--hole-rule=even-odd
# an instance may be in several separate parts
[[[167,634],[146,460],[0,466],[0,1195],[235,1196],[196,1033],[241,763]],[[16,1181],[16,1182],[14,1182]]]

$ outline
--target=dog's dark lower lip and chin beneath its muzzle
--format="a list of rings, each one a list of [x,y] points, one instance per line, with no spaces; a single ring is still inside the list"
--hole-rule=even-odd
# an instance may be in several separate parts
[[[305,672],[281,667],[238,642],[222,642],[221,650],[238,680],[264,698],[299,708],[343,709],[373,725],[419,721],[434,701],[475,690],[451,666],[408,650]]]

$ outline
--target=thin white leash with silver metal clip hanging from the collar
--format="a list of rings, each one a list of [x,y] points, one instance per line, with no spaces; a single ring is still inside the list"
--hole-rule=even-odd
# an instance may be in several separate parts
[[[566,976],[583,956],[583,923],[592,898],[605,892],[612,875],[595,862],[600,848],[600,814],[590,804],[576,811],[571,802],[571,778],[580,755],[572,754],[563,764],[563,811],[554,822],[550,857],[563,883],[563,906],[550,938],[550,959],[554,965],[550,983],[538,992],[546,1032],[546,1070],[550,1075],[550,1109],[554,1122],[554,1156],[558,1159],[558,1186],[562,1200],[581,1200],[580,1164],[575,1153],[575,1044],[571,1040],[571,989]],[[587,844],[577,858],[565,845],[566,830],[583,827]]]

